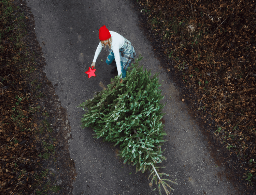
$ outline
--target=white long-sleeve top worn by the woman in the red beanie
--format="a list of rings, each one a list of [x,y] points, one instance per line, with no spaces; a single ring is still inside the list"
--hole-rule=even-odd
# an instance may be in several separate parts
[[[114,56],[115,56],[117,72],[118,72],[118,75],[122,75],[119,49],[123,47],[123,45],[125,43],[125,39],[122,35],[120,35],[116,32],[113,32],[113,31],[109,31],[109,32],[110,32],[111,37],[112,37],[111,49],[112,49],[112,51],[114,53]],[[93,62],[96,62],[96,60],[97,60],[97,58],[98,58],[98,56],[101,52],[102,47],[103,46],[101,45],[101,42],[100,42],[96,51],[95,51]]]

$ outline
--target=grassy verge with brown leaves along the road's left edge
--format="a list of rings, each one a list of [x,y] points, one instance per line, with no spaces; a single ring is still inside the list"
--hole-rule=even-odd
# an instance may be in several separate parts
[[[72,186],[57,179],[64,149],[45,104],[51,83],[39,65],[33,19],[18,4],[0,0],[0,194],[68,194]]]

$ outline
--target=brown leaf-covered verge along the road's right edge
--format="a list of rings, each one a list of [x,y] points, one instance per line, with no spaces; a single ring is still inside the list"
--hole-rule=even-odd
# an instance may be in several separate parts
[[[248,185],[256,180],[254,1],[140,0],[155,51]],[[175,68],[175,69],[173,69]],[[188,92],[187,92],[188,93]],[[252,177],[248,177],[252,176]]]

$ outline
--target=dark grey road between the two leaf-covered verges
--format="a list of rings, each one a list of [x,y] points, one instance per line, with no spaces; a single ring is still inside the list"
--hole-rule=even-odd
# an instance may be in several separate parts
[[[136,1],[133,1],[133,3]],[[82,129],[83,115],[77,106],[110,83],[112,67],[105,65],[106,50],[96,63],[96,77],[85,74],[98,45],[98,29],[106,25],[131,41],[137,54],[144,57],[144,68],[160,72],[163,112],[168,142],[163,153],[167,160],[163,172],[177,179],[172,194],[241,194],[227,181],[225,168],[211,157],[201,129],[189,115],[179,89],[161,68],[152,46],[139,28],[139,17],[127,0],[28,0],[34,15],[38,42],[47,65],[45,73],[55,86],[61,106],[67,109],[72,138],[70,156],[75,162],[77,177],[73,194],[158,194],[150,187],[147,174],[135,174],[135,167],[117,158],[117,148],[93,137],[91,129]]]

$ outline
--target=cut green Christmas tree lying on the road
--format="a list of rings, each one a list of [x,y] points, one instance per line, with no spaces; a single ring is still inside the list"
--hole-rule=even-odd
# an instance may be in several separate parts
[[[120,158],[124,163],[136,165],[136,172],[151,170],[148,179],[153,175],[161,194],[161,186],[167,194],[173,190],[166,181],[169,179],[160,177],[170,176],[165,173],[157,173],[156,163],[166,160],[162,156],[161,146],[167,140],[163,130],[161,118],[163,116],[160,103],[163,98],[161,86],[158,82],[158,74],[151,77],[151,72],[143,71],[139,67],[142,57],[135,60],[127,71],[126,78],[120,83],[120,77],[111,79],[111,84],[106,90],[98,92],[93,99],[86,100],[80,107],[86,111],[81,120],[82,127],[91,127],[96,137],[102,137],[104,141],[119,144]]]

